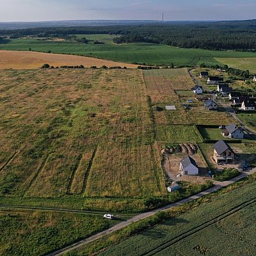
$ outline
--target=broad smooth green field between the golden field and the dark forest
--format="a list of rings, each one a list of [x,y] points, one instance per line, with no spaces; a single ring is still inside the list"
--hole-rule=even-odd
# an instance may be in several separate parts
[[[90,38],[90,36],[88,36]],[[93,39],[95,36],[93,35]],[[99,37],[100,38],[100,37]],[[109,40],[109,39],[108,39]],[[36,39],[11,39],[0,44],[1,50],[32,51],[75,54],[106,60],[146,63],[148,65],[186,65],[189,67],[205,63],[221,65],[215,58],[255,58],[253,52],[208,51],[181,49],[158,44],[120,44],[108,42],[104,45],[83,44],[68,41],[41,41]]]

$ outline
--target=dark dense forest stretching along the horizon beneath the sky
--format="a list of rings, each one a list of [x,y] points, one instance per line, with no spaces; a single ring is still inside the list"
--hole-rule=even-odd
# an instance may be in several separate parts
[[[136,26],[32,28],[0,31],[0,35],[10,35],[11,38],[29,35],[47,37],[77,34],[121,35],[114,39],[116,44],[148,42],[183,48],[256,51],[256,20],[143,24]]]

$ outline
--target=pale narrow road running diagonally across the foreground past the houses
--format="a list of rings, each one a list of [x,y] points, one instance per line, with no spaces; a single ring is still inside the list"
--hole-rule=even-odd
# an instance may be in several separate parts
[[[88,237],[86,239],[83,239],[77,243],[74,243],[74,244],[71,244],[70,246],[67,246],[65,248],[62,248],[56,252],[52,252],[52,253],[49,253],[47,256],[60,256],[60,255],[63,255],[63,253],[67,253],[67,252],[70,252],[71,250],[74,250],[74,249],[77,249],[81,246],[83,246],[84,244],[88,244],[92,241],[95,241],[103,236],[106,236],[106,235],[109,235],[117,230],[120,230],[124,227],[127,227],[128,225],[130,225],[132,222],[137,222],[137,221],[140,221],[140,220],[143,220],[145,218],[148,218],[154,214],[156,214],[156,212],[159,212],[159,211],[168,211],[169,209],[172,209],[173,207],[175,206],[178,206],[178,205],[182,205],[182,204],[186,204],[188,202],[191,202],[193,200],[196,200],[202,196],[205,196],[205,195],[209,195],[215,191],[218,191],[219,189],[221,188],[225,188],[227,186],[229,186],[230,184],[233,184],[234,182],[237,182],[238,180],[241,180],[243,179],[244,177],[247,177],[248,175],[251,175],[252,173],[255,173],[256,172],[256,168],[254,168],[253,170],[251,170],[250,172],[242,172],[241,175],[239,175],[238,177],[234,178],[234,179],[231,179],[231,180],[227,180],[227,181],[224,181],[224,182],[214,182],[214,186],[210,189],[207,189],[205,191],[202,191],[194,196],[189,196],[188,198],[184,198],[182,200],[180,200],[179,202],[175,202],[173,204],[170,204],[170,205],[166,205],[164,207],[161,207],[159,209],[156,209],[156,210],[153,210],[153,211],[150,211],[150,212],[145,212],[145,213],[142,213],[142,214],[139,214],[137,216],[134,216],[133,218],[127,220],[127,221],[124,221],[124,222],[121,222],[121,223],[118,223],[117,225],[107,229],[107,230],[104,230],[102,232],[99,232],[98,234],[95,234],[94,236],[91,236],[91,237]]]

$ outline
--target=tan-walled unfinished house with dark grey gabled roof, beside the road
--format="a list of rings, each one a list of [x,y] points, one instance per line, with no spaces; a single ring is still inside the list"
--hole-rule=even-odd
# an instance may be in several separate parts
[[[219,140],[213,145],[213,158],[216,164],[232,163],[236,159],[236,154],[223,140]]]

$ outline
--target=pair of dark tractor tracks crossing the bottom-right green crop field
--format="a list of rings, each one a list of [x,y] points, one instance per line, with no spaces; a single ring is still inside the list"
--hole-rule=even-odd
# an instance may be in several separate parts
[[[253,198],[252,200],[246,201],[243,204],[240,204],[240,205],[232,208],[230,211],[227,211],[227,212],[225,212],[223,214],[220,214],[216,218],[213,218],[212,220],[206,221],[202,225],[199,225],[199,226],[197,226],[195,228],[192,228],[191,230],[189,230],[187,232],[184,232],[184,233],[180,234],[179,236],[173,238],[171,241],[168,241],[166,243],[161,244],[159,247],[157,247],[156,249],[152,250],[151,252],[143,253],[140,256],[156,255],[157,253],[162,252],[163,250],[165,250],[166,248],[172,246],[173,244],[177,244],[180,241],[182,241],[183,239],[186,239],[189,236],[193,236],[193,234],[196,234],[197,232],[200,232],[200,231],[204,230],[205,228],[210,227],[211,225],[215,225],[219,221],[224,220],[225,218],[228,218],[232,214],[235,214],[236,212],[241,211],[245,207],[248,207],[249,205],[252,205],[252,204],[255,204],[255,203],[256,203],[256,199],[255,198]]]

